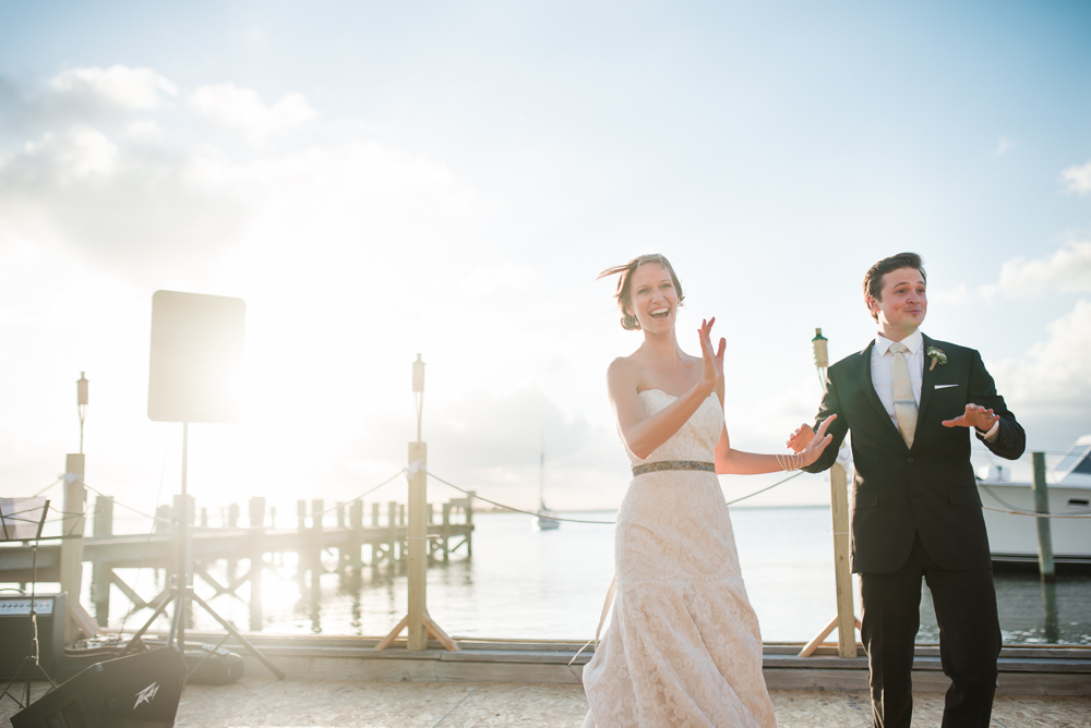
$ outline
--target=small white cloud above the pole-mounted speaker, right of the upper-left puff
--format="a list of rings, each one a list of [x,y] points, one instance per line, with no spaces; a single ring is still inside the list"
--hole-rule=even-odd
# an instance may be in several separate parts
[[[235,84],[201,86],[190,96],[197,116],[259,141],[314,118],[314,109],[300,94],[288,94],[265,106],[257,92]]]

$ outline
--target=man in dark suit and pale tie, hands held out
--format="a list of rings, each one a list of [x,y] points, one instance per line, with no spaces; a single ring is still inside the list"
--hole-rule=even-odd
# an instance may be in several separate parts
[[[1000,629],[967,428],[1009,460],[1022,454],[1026,435],[976,351],[921,333],[925,281],[915,253],[879,260],[864,276],[878,332],[829,367],[817,422],[837,415],[834,439],[804,470],[834,464],[852,432],[852,571],[860,574],[876,728],[909,728],[912,719],[922,578],[951,679],[943,726],[985,728]],[[799,451],[812,437],[804,425],[790,445]]]

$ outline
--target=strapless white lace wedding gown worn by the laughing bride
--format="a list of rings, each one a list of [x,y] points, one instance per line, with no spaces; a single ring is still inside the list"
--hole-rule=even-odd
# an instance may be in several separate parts
[[[674,398],[640,392],[651,415]],[[723,414],[714,393],[647,460],[712,462]],[[585,728],[776,726],[762,677],[762,635],[714,473],[633,478],[614,534],[618,593],[584,667]]]

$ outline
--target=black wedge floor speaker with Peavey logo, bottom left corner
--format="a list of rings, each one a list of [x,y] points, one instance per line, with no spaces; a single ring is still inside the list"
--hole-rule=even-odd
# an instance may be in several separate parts
[[[170,728],[185,680],[175,647],[96,663],[11,717],[13,728]]]

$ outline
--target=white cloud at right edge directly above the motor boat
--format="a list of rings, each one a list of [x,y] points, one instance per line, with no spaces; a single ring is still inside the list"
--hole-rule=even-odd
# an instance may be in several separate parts
[[[1091,412],[1091,301],[1079,301],[1047,331],[1048,339],[1024,356],[1004,360],[990,371],[1020,416],[1057,417],[1086,427]]]

